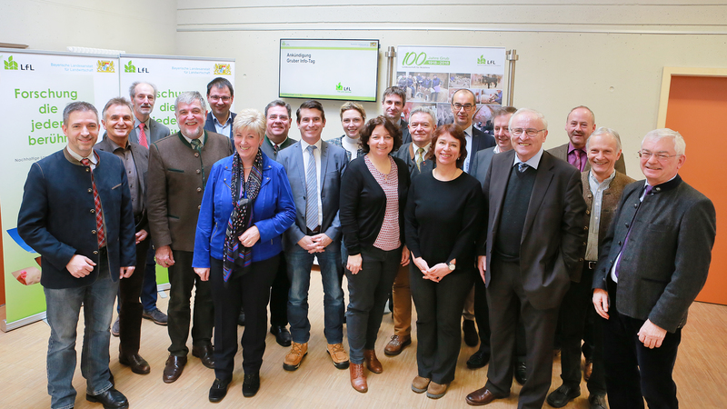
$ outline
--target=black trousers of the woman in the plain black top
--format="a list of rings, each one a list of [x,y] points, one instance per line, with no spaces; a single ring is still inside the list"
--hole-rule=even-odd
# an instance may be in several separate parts
[[[409,264],[409,286],[416,307],[416,364],[418,374],[437,384],[454,380],[462,347],[462,308],[472,290],[473,270],[455,272],[434,283]]]

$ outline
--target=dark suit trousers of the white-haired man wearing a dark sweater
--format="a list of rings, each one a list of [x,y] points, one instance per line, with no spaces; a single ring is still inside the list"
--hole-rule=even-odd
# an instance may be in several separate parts
[[[551,386],[558,308],[535,308],[523,290],[520,264],[503,262],[496,254],[492,257],[487,302],[490,306],[493,354],[485,386],[496,396],[510,394],[519,308],[525,327],[528,379],[520,390],[518,408],[540,409]]]

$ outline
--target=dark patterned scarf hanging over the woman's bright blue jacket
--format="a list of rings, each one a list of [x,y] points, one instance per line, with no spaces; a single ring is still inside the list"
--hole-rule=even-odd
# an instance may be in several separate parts
[[[259,148],[257,149],[257,155],[255,155],[253,168],[250,170],[250,175],[244,185],[241,183],[243,178],[243,160],[240,155],[234,155],[231,182],[234,209],[233,214],[230,215],[230,220],[227,221],[227,232],[224,234],[224,283],[227,283],[232,275],[235,264],[242,267],[241,274],[245,274],[249,271],[250,264],[253,261],[253,252],[249,247],[241,245],[238,237],[250,225],[255,198],[260,192],[260,183],[263,180],[263,154]],[[240,192],[241,186],[243,187],[242,192]],[[247,193],[246,198],[243,197],[245,192]]]

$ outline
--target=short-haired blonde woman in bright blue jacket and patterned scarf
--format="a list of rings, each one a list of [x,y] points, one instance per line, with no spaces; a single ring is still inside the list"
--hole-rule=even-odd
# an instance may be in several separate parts
[[[267,300],[283,250],[281,234],[295,205],[282,165],[263,154],[265,117],[245,109],[234,118],[234,155],[213,165],[194,238],[194,272],[210,280],[214,300],[214,384],[210,402],[227,394],[237,353],[237,315],[244,307],[243,394],[260,388]]]

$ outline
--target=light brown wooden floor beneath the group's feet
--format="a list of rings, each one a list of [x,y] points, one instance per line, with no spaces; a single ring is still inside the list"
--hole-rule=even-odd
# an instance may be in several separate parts
[[[159,299],[159,307],[165,311],[168,298]],[[416,375],[416,340],[399,356],[390,358],[383,354],[383,346],[392,334],[391,314],[383,316],[383,324],[376,344],[376,352],[383,364],[383,374],[369,374],[369,392],[359,394],[349,383],[348,370],[334,368],[325,352],[323,334],[323,290],[320,274],[314,272],[310,296],[311,340],[309,353],[300,369],[283,370],[287,348],[275,344],[268,334],[264,364],[261,369],[261,389],[253,398],[242,395],[242,358],[235,357],[234,380],[224,401],[210,404],[207,400],[209,387],[214,381],[214,371],[205,368],[198,359],[189,355],[184,374],[174,384],[162,382],[162,370],[166,359],[169,338],[166,327],[144,320],[140,353],[151,364],[152,373],[133,374],[118,363],[118,338],[111,339],[111,371],[115,374],[116,387],[129,399],[134,408],[465,408],[464,397],[485,382],[486,367],[473,371],[464,364],[476,347],[463,344],[457,364],[455,380],[447,394],[432,400],[424,394],[414,394],[411,382]],[[0,314],[5,315],[5,307]],[[78,351],[80,362],[79,325]],[[243,327],[239,333],[242,334]],[[45,352],[49,327],[44,322],[26,325],[11,331],[0,332],[0,408],[41,408],[50,405],[46,391]],[[415,333],[414,333],[415,334]],[[190,341],[191,344],[191,341]],[[348,349],[347,340],[344,345]],[[727,407],[727,306],[693,304],[689,323],[682,332],[682,345],[674,370],[679,401],[684,408]],[[553,363],[553,384],[560,380],[560,360]],[[78,396],[75,407],[98,408],[99,404],[85,401],[85,379],[78,368],[74,378]],[[509,399],[495,401],[489,408],[513,408],[517,406],[520,386],[513,382]],[[582,384],[582,396],[568,404],[568,408],[587,408],[587,390]],[[550,407],[547,404],[545,407]],[[613,408],[617,409],[617,408]]]

